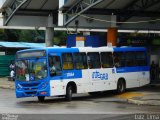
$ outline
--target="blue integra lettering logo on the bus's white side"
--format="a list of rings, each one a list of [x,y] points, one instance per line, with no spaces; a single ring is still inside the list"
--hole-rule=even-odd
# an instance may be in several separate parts
[[[100,73],[98,71],[92,73],[93,79],[108,80],[108,73]]]

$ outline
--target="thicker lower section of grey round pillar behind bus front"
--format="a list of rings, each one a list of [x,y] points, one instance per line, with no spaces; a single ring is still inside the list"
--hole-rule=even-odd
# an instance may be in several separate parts
[[[52,47],[53,46],[53,39],[54,39],[54,27],[46,27],[46,33],[45,33],[45,43],[46,47]]]

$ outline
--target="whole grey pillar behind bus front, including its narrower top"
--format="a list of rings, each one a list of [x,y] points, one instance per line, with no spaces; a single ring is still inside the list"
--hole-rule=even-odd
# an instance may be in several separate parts
[[[53,24],[53,15],[48,16],[47,26],[46,26],[46,33],[45,33],[45,43],[46,47],[53,46],[53,39],[54,39],[54,24]]]

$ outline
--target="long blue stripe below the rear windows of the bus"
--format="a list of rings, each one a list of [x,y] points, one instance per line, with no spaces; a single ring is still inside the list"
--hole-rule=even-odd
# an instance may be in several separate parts
[[[150,70],[149,66],[116,68],[117,73],[140,72],[140,71],[149,71],[149,70]]]

